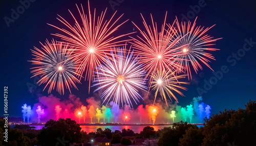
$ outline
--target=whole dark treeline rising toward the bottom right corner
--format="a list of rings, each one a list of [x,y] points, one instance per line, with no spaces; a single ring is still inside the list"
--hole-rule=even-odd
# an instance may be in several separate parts
[[[177,123],[160,131],[158,145],[255,145],[256,102],[204,119],[204,127]]]

